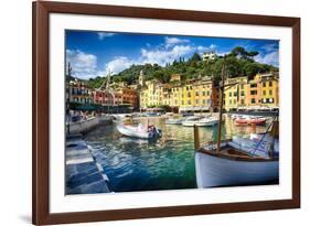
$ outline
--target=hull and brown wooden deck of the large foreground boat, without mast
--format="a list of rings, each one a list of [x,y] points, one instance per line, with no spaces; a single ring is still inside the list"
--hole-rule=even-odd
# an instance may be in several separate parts
[[[237,150],[231,142],[221,151],[200,149],[195,152],[196,182],[199,187],[264,184],[279,177],[279,161],[265,159]]]

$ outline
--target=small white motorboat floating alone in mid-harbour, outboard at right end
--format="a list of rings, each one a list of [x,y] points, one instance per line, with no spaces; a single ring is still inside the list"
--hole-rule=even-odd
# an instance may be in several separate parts
[[[118,125],[117,130],[121,134],[132,138],[157,139],[162,136],[161,130],[157,129],[154,126],[145,127],[141,123],[139,123],[138,126]]]

